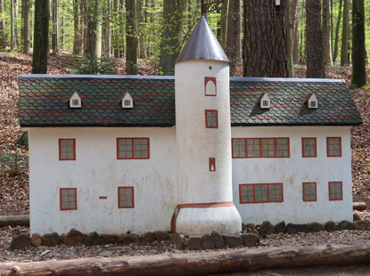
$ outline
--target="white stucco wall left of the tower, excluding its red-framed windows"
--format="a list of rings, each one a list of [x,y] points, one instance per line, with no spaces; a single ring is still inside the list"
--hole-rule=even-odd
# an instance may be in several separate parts
[[[117,137],[149,137],[150,159],[118,160]],[[59,138],[76,139],[76,161],[59,161]],[[177,205],[176,157],[174,127],[31,128],[30,231],[169,231]],[[135,187],[135,208],[118,208],[119,186]],[[77,188],[77,210],[60,210],[60,188]]]

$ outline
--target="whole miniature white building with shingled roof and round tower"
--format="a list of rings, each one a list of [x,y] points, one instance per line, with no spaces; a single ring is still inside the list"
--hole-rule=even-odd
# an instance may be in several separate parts
[[[345,82],[229,77],[204,18],[175,77],[21,75],[20,97],[31,232],[352,221],[349,127],[362,120]]]

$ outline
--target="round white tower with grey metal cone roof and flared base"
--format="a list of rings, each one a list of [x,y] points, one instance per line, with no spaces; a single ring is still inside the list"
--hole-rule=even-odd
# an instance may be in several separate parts
[[[241,231],[233,203],[229,61],[204,17],[175,66],[179,233]]]

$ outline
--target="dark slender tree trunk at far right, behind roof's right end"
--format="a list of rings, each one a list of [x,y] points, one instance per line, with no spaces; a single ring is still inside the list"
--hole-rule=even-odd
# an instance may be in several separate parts
[[[366,85],[364,0],[352,2],[352,85]]]

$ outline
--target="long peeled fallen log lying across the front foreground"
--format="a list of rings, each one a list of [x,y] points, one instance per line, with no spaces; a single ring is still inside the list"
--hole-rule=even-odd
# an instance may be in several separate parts
[[[241,248],[157,256],[92,257],[38,263],[0,263],[1,275],[204,275],[282,267],[370,262],[370,244]]]

